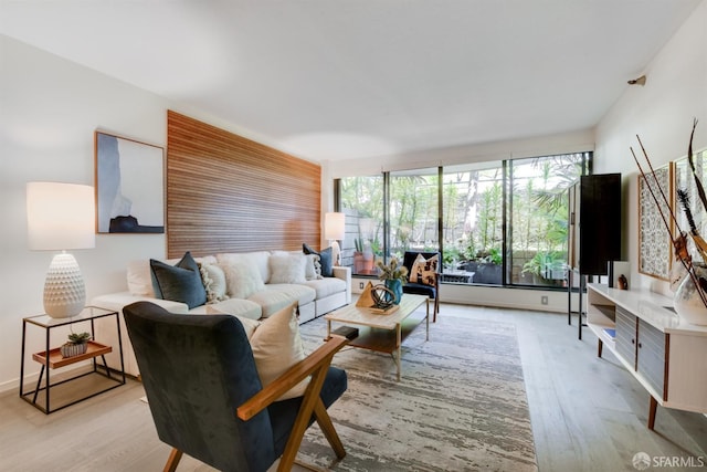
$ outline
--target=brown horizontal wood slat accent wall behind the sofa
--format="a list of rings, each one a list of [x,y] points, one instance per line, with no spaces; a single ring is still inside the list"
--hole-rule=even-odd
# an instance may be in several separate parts
[[[320,241],[320,166],[167,112],[167,255]]]

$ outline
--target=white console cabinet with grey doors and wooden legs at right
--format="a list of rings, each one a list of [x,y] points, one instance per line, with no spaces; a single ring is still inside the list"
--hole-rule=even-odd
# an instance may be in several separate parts
[[[651,394],[648,429],[657,406],[707,412],[707,326],[687,324],[673,301],[647,290],[587,286],[587,325]]]

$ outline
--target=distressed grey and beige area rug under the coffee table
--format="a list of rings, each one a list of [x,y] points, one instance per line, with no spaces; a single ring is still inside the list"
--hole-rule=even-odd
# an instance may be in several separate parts
[[[308,352],[326,321],[300,326]],[[389,355],[346,348],[334,364],[349,388],[329,408],[347,455],[318,427],[304,462],[334,471],[537,471],[515,325],[443,314],[403,343],[402,379]]]

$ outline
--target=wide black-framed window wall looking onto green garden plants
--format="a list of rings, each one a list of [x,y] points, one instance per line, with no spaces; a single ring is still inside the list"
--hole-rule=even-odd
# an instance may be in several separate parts
[[[342,178],[344,263],[441,251],[444,283],[561,287],[567,281],[567,190],[590,153]],[[348,247],[348,248],[347,248]]]

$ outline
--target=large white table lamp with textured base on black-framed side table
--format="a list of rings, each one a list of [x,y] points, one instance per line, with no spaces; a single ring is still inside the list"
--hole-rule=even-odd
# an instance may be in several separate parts
[[[68,249],[96,245],[93,187],[75,183],[28,182],[27,222],[31,250],[54,255],[44,282],[44,311],[53,318],[77,315],[86,303],[78,263]]]

